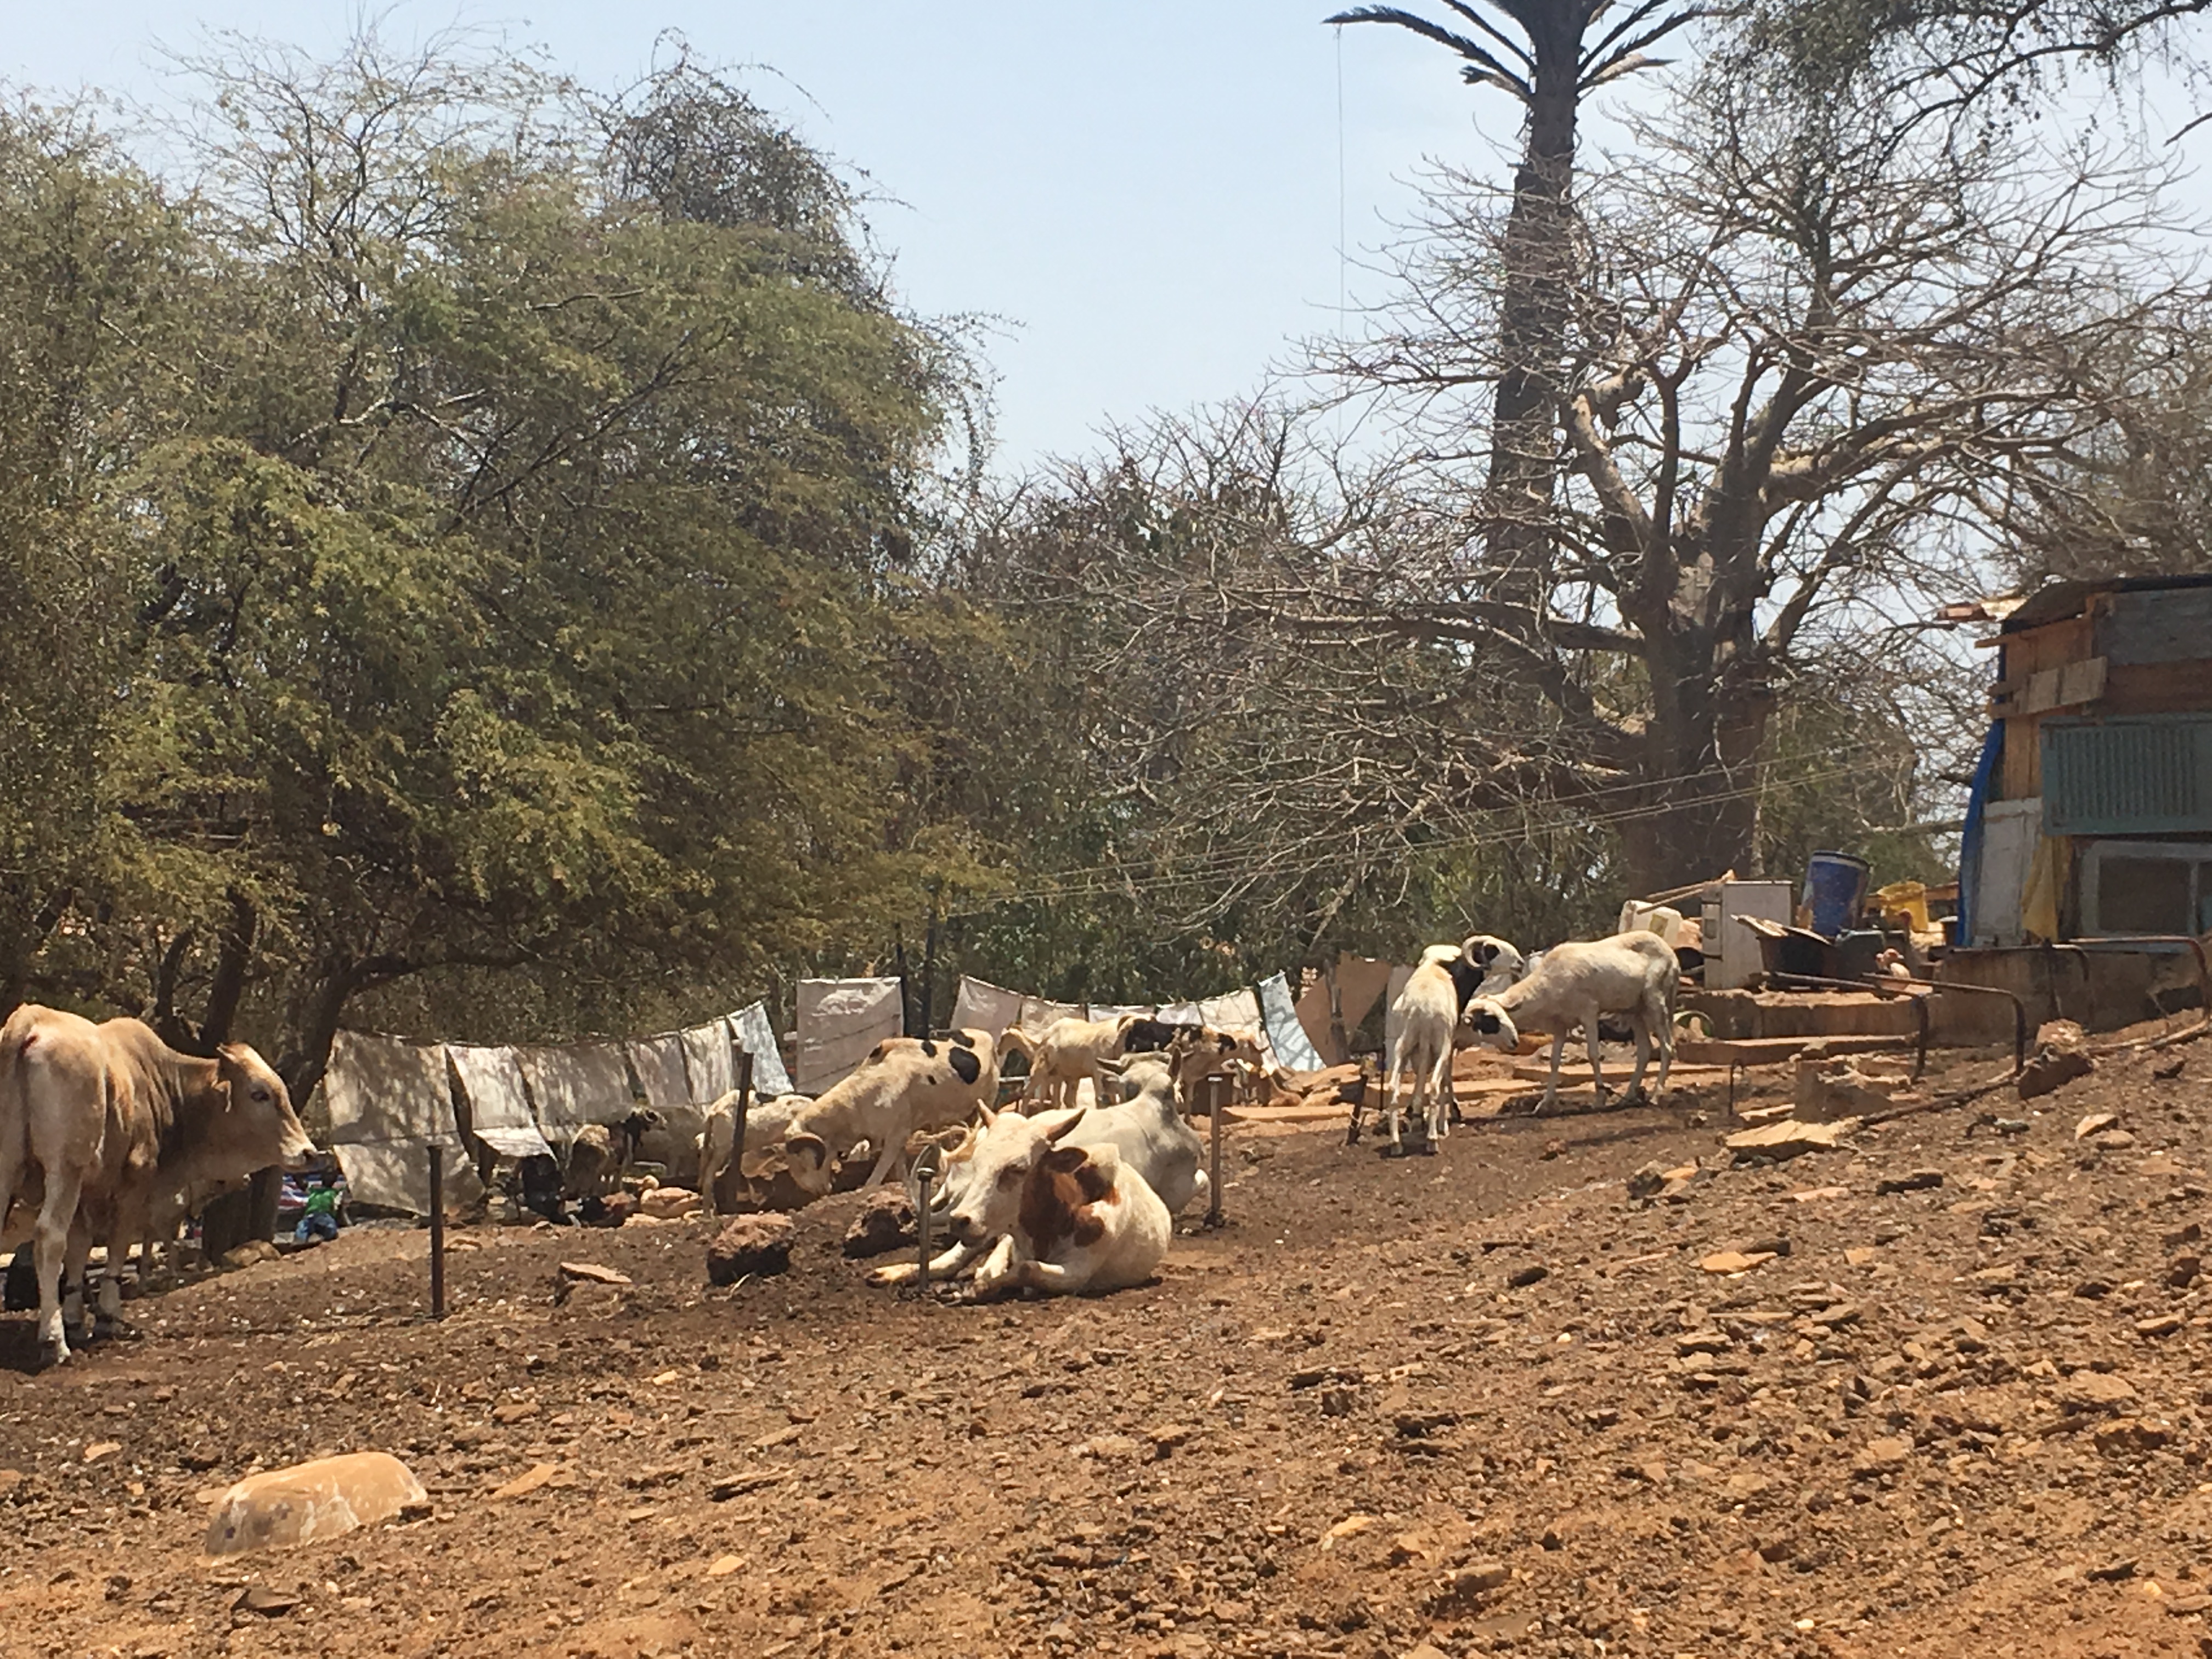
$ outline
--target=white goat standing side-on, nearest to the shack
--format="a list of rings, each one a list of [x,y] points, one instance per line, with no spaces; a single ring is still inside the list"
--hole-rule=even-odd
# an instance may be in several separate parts
[[[1650,1064],[1652,1042],[1659,1044],[1655,1088],[1663,1091],[1666,1075],[1674,1066],[1679,984],[1681,962],[1663,938],[1615,933],[1595,945],[1553,945],[1535,973],[1498,995],[1475,998],[1467,1015],[1475,1031],[1509,1053],[1520,1046],[1522,1026],[1551,1033],[1551,1082],[1544,1084],[1544,1104],[1537,1108],[1551,1110],[1559,1097],[1559,1053],[1575,1026],[1582,1026],[1590,1046],[1590,1082],[1604,1102],[1606,1066],[1597,1055],[1597,1029],[1608,1013],[1626,1015],[1637,1037],[1637,1075],[1628,1084],[1628,1095],[1644,1091],[1644,1066]]]

